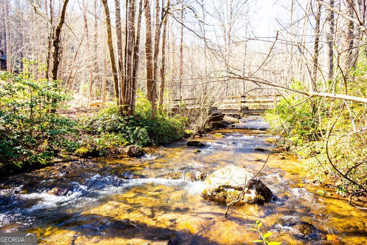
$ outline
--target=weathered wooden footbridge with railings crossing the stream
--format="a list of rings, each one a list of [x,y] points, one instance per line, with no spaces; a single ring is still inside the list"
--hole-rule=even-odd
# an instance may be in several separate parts
[[[239,95],[214,98],[211,104],[209,114],[263,114],[266,110],[275,108],[277,101],[281,100],[280,94],[274,95]],[[179,108],[193,111],[202,107],[205,103],[200,103],[196,98],[188,98],[184,100],[173,100],[174,111]]]

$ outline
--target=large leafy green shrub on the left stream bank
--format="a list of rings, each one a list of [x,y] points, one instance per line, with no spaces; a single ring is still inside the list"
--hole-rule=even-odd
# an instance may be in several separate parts
[[[24,63],[26,72],[19,75],[0,72],[0,169],[13,172],[46,164],[62,149],[75,147],[68,136],[76,134],[76,123],[51,113],[70,98],[58,81],[34,79],[32,65],[43,65]]]

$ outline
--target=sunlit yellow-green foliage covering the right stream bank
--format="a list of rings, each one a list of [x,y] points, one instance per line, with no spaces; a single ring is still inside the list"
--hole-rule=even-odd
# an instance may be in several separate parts
[[[337,84],[341,86],[334,87],[335,93],[357,97],[365,94],[367,65],[364,63],[359,62],[351,68],[348,77],[336,78]],[[332,84],[329,85],[333,87]],[[305,90],[298,81],[292,84],[292,88]],[[299,94],[286,96],[286,100],[280,101],[265,118],[271,123],[273,134],[284,136],[291,144],[290,152],[305,158],[303,165],[308,171],[308,177],[319,183],[330,179],[343,179],[334,166],[345,174],[366,159],[367,135],[363,132],[349,133],[366,125],[367,107],[360,102],[344,102],[331,98],[314,97],[307,101],[305,99],[305,96]],[[333,130],[328,139],[332,125]],[[330,164],[327,153],[334,166]],[[366,186],[367,164],[353,168],[348,172],[348,177],[359,185]],[[337,194],[342,196],[360,190],[360,187],[344,179],[343,185],[337,188]]]

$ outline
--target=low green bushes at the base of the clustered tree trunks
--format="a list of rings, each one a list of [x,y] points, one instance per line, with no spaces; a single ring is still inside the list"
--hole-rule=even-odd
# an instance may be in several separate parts
[[[152,105],[138,91],[133,116],[124,116],[116,105],[102,109],[90,118],[87,130],[96,135],[112,134],[124,141],[123,144],[139,146],[165,145],[185,136],[186,119],[168,116],[163,110],[155,112],[152,120]]]

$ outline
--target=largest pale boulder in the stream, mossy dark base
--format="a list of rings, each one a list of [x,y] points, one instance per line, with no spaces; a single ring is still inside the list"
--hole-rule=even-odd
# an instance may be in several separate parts
[[[227,165],[209,174],[204,180],[205,190],[202,196],[219,202],[231,202],[239,199],[243,187],[245,188],[240,202],[260,203],[269,202],[272,192],[254,174],[247,172],[243,167]]]

